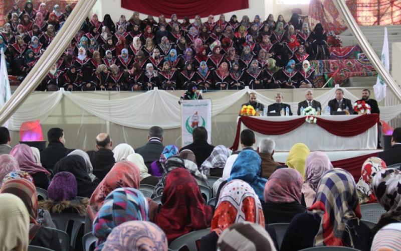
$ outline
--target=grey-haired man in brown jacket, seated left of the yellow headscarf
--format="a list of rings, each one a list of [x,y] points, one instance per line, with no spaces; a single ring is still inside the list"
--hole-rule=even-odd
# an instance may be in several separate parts
[[[270,175],[276,170],[279,163],[275,162],[273,159],[274,148],[276,147],[276,143],[272,139],[262,139],[259,142],[258,153],[260,158],[262,159],[261,174],[260,176],[269,178]]]

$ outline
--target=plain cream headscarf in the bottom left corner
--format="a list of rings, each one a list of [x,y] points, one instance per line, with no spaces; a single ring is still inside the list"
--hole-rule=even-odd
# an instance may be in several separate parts
[[[28,250],[29,214],[14,194],[0,194],[0,243],[4,250]]]

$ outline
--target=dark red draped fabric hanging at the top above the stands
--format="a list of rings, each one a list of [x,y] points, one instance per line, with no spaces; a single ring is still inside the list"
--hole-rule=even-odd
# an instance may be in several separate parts
[[[176,14],[178,18],[183,18],[185,16],[194,18],[195,15],[200,15],[200,17],[203,18],[208,17],[209,15],[219,15],[222,13],[248,9],[249,4],[248,0],[121,0],[121,7],[131,11],[153,15],[155,17],[158,17],[160,14],[163,14],[166,17]]]

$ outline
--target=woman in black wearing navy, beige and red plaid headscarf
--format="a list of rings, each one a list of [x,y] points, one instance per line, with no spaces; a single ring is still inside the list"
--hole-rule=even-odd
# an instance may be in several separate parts
[[[370,250],[370,229],[360,222],[360,217],[352,175],[340,168],[327,171],[308,212],[300,213],[291,220],[280,250],[312,246],[348,246]]]

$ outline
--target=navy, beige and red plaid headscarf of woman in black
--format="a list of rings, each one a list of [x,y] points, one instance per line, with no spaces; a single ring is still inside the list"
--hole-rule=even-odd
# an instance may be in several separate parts
[[[315,201],[308,210],[321,218],[315,246],[354,246],[350,236],[351,231],[355,231],[351,220],[361,215],[351,174],[341,168],[327,171],[319,182]],[[351,243],[344,243],[344,234],[349,235]]]

